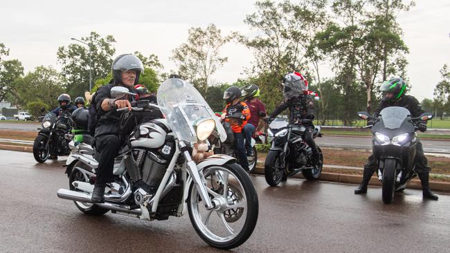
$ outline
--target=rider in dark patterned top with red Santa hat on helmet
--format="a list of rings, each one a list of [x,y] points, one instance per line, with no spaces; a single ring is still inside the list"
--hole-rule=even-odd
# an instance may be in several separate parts
[[[312,132],[314,131],[314,124],[312,124],[312,120],[314,120],[314,102],[308,93],[307,79],[298,72],[288,73],[283,78],[282,85],[282,94],[285,100],[271,113],[266,121],[270,122],[282,111],[289,108],[289,124],[303,124],[306,128],[305,141],[312,149],[314,164],[318,165],[321,160],[319,159],[316,142],[312,138]]]

